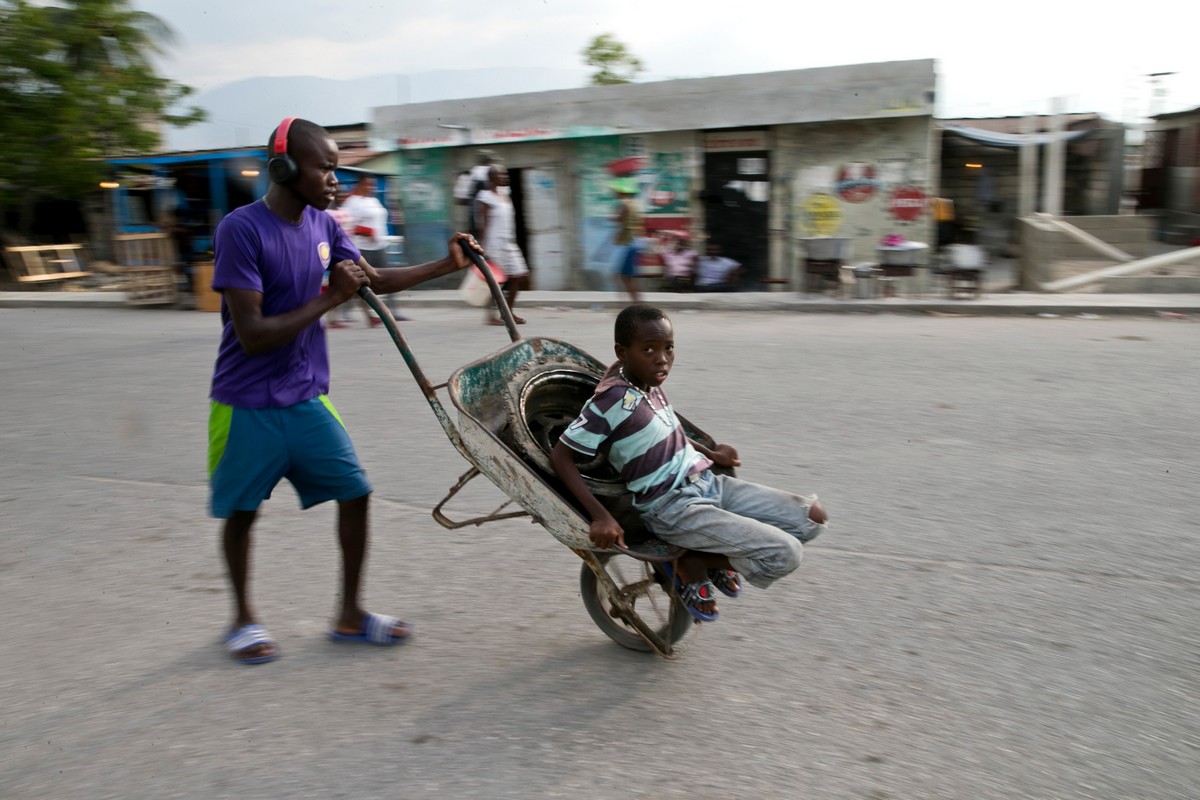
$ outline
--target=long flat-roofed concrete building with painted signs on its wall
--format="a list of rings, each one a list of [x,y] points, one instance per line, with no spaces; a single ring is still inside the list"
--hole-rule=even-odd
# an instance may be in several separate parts
[[[648,229],[718,242],[757,288],[796,277],[806,236],[851,239],[851,260],[932,241],[935,84],[917,60],[386,106],[372,149],[398,148],[410,261],[444,252],[455,179],[487,148],[538,289],[608,288],[618,176]]]

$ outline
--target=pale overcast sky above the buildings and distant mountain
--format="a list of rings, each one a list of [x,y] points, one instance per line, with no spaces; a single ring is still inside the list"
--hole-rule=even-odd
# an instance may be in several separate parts
[[[582,67],[611,32],[641,80],[936,59],[937,114],[1068,112],[1134,122],[1200,106],[1194,0],[974,4],[859,0],[133,0],[179,34],[163,61],[198,90],[258,76],[359,78],[497,66]],[[1150,73],[1164,97],[1156,107]],[[380,104],[386,104],[384,100]]]

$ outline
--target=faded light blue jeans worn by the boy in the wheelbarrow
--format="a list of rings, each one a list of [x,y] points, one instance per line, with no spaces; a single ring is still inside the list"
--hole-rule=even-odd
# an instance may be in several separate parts
[[[750,584],[766,589],[800,565],[800,542],[826,529],[809,519],[815,500],[704,470],[642,512],[642,521],[665,542],[727,555]]]

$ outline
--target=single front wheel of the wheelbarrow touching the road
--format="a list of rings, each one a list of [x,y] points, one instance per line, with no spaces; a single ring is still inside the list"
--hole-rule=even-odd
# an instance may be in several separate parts
[[[617,553],[596,553],[595,557],[647,627],[672,646],[686,636],[692,627],[692,618],[664,589],[652,564]],[[587,564],[580,573],[580,590],[583,593],[583,606],[588,609],[588,615],[610,639],[630,650],[653,651],[631,625],[613,616],[612,601]]]

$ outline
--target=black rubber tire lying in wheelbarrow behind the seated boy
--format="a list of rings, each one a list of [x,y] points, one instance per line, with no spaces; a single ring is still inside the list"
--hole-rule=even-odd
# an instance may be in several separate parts
[[[539,359],[536,361],[530,361],[522,365],[520,369],[512,373],[512,377],[508,380],[504,386],[504,409],[508,413],[509,425],[504,427],[504,433],[502,434],[505,443],[512,447],[523,459],[536,467],[547,476],[554,475],[554,468],[550,463],[550,451],[546,446],[542,446],[538,441],[535,434],[530,431],[529,420],[522,413],[522,397],[526,393],[526,387],[530,384],[539,381],[539,379],[546,379],[552,373],[571,373],[572,378],[577,378],[581,385],[589,385],[592,390],[600,381],[604,372],[590,365],[584,365],[580,361],[571,359],[558,359],[558,357],[546,357]],[[587,392],[590,396],[590,390]],[[581,395],[582,397],[582,395]],[[568,411],[568,416],[571,420],[578,415],[580,410],[583,408],[583,402],[580,403],[578,409],[563,409]],[[563,420],[563,428],[566,427],[566,417]],[[556,437],[557,440],[557,437]],[[553,443],[547,441],[548,446],[553,446]],[[612,473],[605,477],[595,477],[593,474],[602,474],[605,471]],[[590,463],[581,463],[580,473],[583,475],[583,482],[590,489],[592,494],[596,497],[616,497],[624,493],[625,485],[622,482],[620,477],[616,475],[611,467],[607,467],[606,461],[602,457],[593,459]]]

